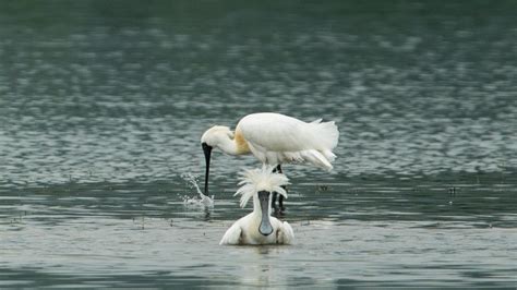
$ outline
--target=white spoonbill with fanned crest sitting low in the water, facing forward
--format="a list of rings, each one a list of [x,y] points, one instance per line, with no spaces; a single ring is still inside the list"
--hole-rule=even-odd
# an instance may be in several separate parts
[[[219,244],[290,244],[294,239],[291,226],[270,216],[273,192],[287,198],[288,179],[272,172],[273,167],[262,170],[247,170],[242,174],[242,185],[236,193],[241,194],[241,207],[253,196],[253,212],[237,220],[225,233]]]

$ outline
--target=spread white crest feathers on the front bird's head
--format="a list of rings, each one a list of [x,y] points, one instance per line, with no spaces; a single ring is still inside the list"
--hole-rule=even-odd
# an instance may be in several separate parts
[[[287,192],[281,186],[289,184],[289,179],[282,173],[273,172],[273,166],[263,166],[262,169],[247,169],[239,178],[239,190],[235,195],[241,196],[241,207],[260,191],[277,192],[287,198]]]

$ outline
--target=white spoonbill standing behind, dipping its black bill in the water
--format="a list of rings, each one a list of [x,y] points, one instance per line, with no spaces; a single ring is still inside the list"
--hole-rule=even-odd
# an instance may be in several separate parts
[[[229,155],[251,153],[262,164],[277,166],[280,173],[280,165],[286,162],[310,162],[330,170],[339,131],[334,122],[321,121],[308,123],[280,113],[261,112],[242,118],[235,132],[221,125],[208,129],[201,137],[206,160],[205,195],[213,147]],[[273,200],[276,207],[275,196]],[[278,202],[284,209],[281,195]]]

